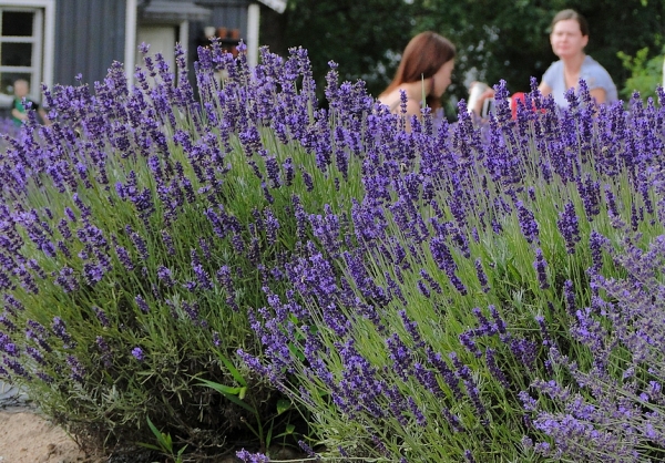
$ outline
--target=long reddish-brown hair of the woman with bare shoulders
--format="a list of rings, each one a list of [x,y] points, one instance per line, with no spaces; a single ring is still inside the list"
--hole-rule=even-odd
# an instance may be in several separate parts
[[[443,64],[454,59],[456,50],[450,40],[436,32],[421,32],[407,44],[399,68],[390,85],[381,93],[392,92],[402,83],[418,82],[434,75]],[[426,95],[426,103],[432,110],[439,109],[441,102],[436,95]]]

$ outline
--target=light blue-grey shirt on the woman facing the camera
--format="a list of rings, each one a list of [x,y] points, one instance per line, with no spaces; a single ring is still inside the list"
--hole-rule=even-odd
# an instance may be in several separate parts
[[[618,100],[616,94],[616,85],[612,82],[612,78],[597,61],[590,55],[584,56],[582,69],[580,70],[580,79],[584,79],[589,90],[603,89],[605,91],[605,103],[613,103]],[[563,96],[566,89],[565,76],[563,75],[563,61],[559,60],[543,74],[543,82],[552,89],[554,102],[560,107],[567,107],[567,101]]]

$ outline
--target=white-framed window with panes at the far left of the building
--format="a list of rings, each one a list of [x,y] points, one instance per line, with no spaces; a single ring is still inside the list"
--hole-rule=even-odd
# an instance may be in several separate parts
[[[0,6],[0,92],[11,94],[18,79],[39,94],[42,82],[43,9]]]

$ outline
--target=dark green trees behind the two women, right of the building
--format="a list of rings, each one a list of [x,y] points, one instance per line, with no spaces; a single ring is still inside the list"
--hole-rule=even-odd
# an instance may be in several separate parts
[[[665,37],[662,0],[289,0],[278,21],[283,32],[277,51],[303,45],[317,82],[334,60],[342,80],[364,79],[378,95],[410,38],[434,30],[458,47],[453,85],[444,96],[454,102],[467,96],[466,84],[473,79],[492,84],[504,79],[511,92],[529,90],[531,76],[540,81],[556,60],[550,22],[565,8],[589,20],[586,51],[620,90],[632,74],[617,52],[636,55],[649,47],[655,55]]]

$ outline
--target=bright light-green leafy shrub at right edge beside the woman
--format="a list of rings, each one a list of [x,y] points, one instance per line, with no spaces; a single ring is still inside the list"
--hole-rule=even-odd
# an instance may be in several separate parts
[[[640,92],[643,100],[657,99],[656,88],[663,85],[663,48],[661,54],[649,58],[648,47],[637,50],[635,56],[627,55],[620,51],[616,55],[621,59],[623,66],[631,72],[626,80],[626,85],[621,90],[621,94],[630,100],[634,92]]]

